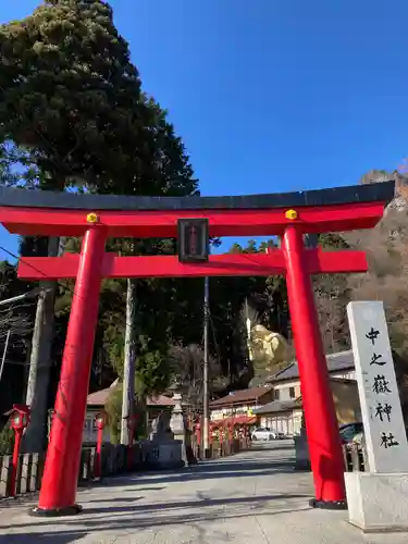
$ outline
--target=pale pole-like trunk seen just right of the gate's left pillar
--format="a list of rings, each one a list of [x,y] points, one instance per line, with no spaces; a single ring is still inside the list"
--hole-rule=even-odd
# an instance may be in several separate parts
[[[128,424],[131,423],[135,403],[135,317],[136,281],[128,279],[126,292],[126,329],[121,420],[121,444],[125,446],[127,446],[129,442]]]

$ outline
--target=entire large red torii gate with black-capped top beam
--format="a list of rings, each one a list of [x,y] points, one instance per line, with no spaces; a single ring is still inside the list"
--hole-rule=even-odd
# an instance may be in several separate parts
[[[121,197],[0,189],[0,222],[13,234],[84,236],[81,255],[25,258],[18,276],[75,277],[60,384],[38,508],[76,514],[77,474],[102,277],[284,274],[299,366],[318,507],[345,507],[344,466],[310,274],[364,272],[361,251],[306,248],[305,234],[371,228],[394,197],[394,182],[243,197]],[[176,256],[118,257],[109,237],[176,237],[180,219],[208,219],[211,236],[272,236],[282,249],[217,255],[182,263]]]

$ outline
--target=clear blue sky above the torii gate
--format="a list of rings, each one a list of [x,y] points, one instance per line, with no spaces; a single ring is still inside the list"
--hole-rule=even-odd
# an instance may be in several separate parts
[[[0,3],[0,21],[39,2]],[[408,154],[406,0],[112,0],[205,195],[357,183]],[[0,243],[15,249],[11,237]]]

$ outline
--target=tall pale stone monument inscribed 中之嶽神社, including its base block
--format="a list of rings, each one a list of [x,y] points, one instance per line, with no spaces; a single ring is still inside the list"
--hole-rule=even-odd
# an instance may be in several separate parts
[[[345,474],[349,521],[408,531],[408,443],[383,302],[349,302],[347,316],[369,465]]]

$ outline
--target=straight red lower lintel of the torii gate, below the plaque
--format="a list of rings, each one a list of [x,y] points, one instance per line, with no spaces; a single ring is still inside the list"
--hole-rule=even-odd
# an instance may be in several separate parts
[[[322,251],[304,249],[304,262],[308,274],[334,274],[366,272],[363,251]],[[18,277],[22,280],[75,279],[79,265],[78,254],[62,257],[27,257],[20,261]],[[267,276],[286,275],[285,256],[282,249],[268,254],[212,255],[208,262],[183,263],[176,256],[118,257],[103,256],[102,277],[193,277],[193,276]]]

